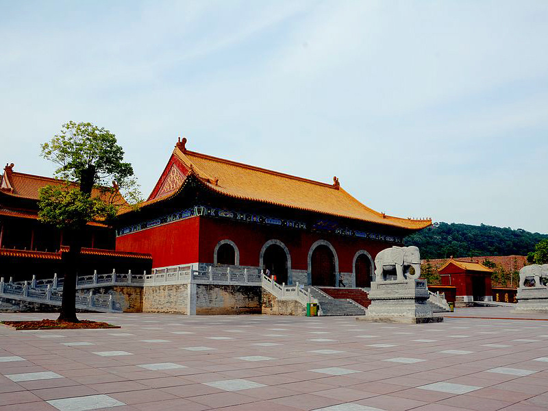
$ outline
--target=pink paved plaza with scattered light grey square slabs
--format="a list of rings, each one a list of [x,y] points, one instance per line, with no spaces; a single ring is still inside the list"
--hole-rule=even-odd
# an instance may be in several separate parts
[[[547,410],[548,321],[500,319],[510,310],[425,325],[142,313],[80,314],[121,329],[0,327],[0,411]]]

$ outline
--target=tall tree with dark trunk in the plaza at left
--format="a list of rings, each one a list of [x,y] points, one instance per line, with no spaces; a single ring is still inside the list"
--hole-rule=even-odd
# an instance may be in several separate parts
[[[123,155],[114,134],[91,123],[70,121],[42,144],[42,157],[58,164],[55,176],[65,181],[63,186],[42,188],[38,203],[40,221],[64,229],[69,238],[58,321],[78,321],[75,296],[82,230],[90,221],[110,223],[118,209],[127,206],[120,190],[130,203],[140,198],[132,165],[123,162]]]

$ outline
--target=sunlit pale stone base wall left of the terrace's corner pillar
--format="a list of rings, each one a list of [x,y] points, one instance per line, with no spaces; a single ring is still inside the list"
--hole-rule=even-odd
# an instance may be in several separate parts
[[[188,314],[188,284],[143,287],[142,312]]]

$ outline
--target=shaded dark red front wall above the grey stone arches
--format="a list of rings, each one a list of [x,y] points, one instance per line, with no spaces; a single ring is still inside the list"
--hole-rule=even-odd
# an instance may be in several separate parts
[[[379,251],[392,247],[392,244],[361,238],[203,218],[200,220],[199,261],[212,263],[215,246],[219,241],[231,240],[240,251],[240,265],[258,266],[262,246],[273,239],[286,245],[291,257],[291,268],[297,270],[308,269],[308,251],[317,240],[326,240],[333,245],[338,256],[339,271],[343,273],[353,271],[352,262],[357,251],[366,250],[374,260]]]

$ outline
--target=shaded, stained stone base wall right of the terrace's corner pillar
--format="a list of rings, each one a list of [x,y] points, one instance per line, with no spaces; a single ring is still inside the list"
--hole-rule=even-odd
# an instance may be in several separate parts
[[[196,284],[196,314],[260,314],[261,286]]]

